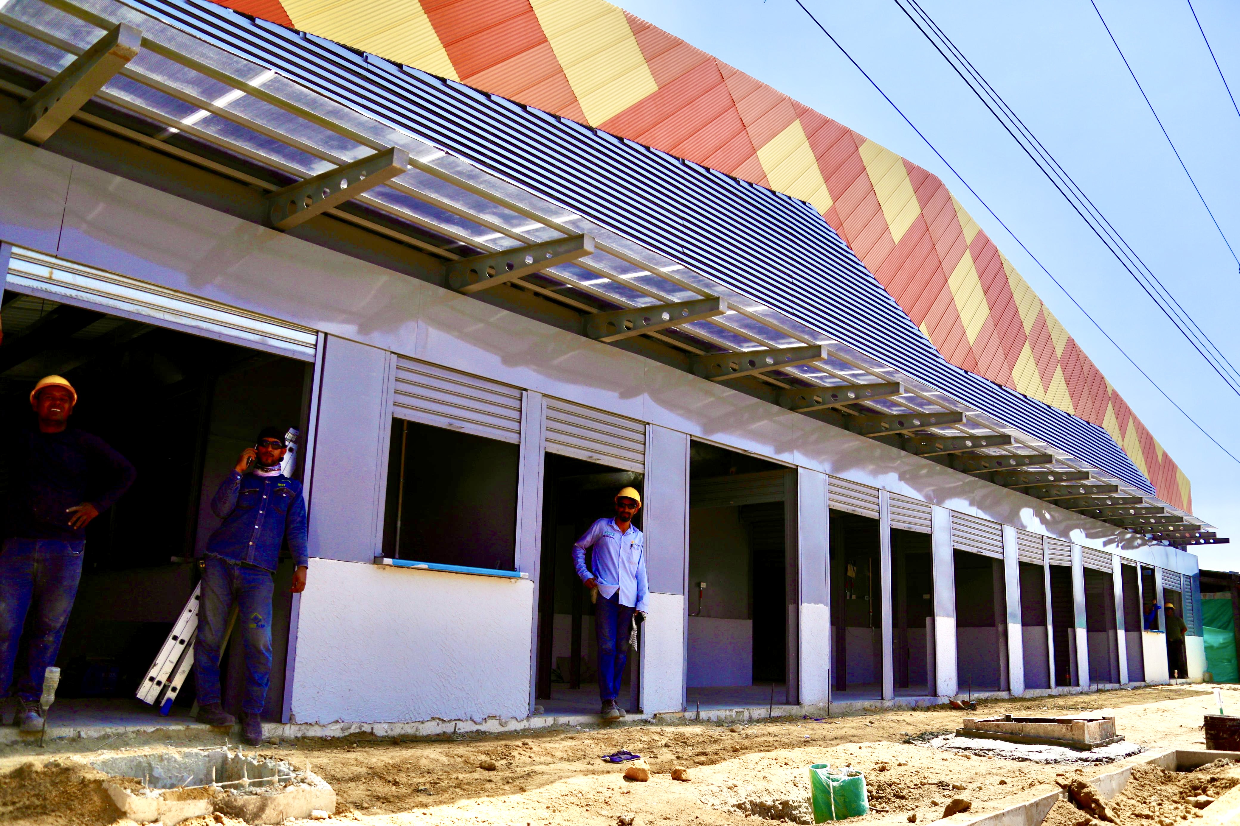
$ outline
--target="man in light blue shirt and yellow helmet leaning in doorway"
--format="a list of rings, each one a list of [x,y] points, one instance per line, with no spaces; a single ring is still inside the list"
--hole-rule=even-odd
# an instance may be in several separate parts
[[[620,719],[625,711],[616,698],[634,612],[646,613],[646,549],[642,533],[632,524],[641,509],[641,494],[624,488],[615,497],[611,519],[599,519],[573,545],[577,576],[596,589],[594,635],[599,644],[599,711],[604,719]],[[594,549],[594,570],[585,567],[585,551]]]

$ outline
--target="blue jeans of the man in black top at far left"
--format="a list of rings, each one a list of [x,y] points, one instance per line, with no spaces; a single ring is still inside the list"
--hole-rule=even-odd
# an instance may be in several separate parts
[[[61,638],[82,578],[86,542],[6,539],[0,550],[0,696],[15,682],[25,702],[43,693],[43,671],[56,665]],[[26,632],[26,656],[17,645]]]

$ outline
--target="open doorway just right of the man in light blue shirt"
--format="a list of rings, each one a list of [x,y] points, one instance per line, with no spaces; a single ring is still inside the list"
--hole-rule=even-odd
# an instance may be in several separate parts
[[[796,702],[795,473],[689,448],[689,707]]]

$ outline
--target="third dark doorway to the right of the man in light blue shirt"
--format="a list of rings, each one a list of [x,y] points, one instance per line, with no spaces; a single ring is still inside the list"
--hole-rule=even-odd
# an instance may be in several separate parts
[[[895,690],[915,695],[930,693],[934,637],[928,623],[934,617],[934,568],[930,560],[930,534],[892,530],[893,651]]]

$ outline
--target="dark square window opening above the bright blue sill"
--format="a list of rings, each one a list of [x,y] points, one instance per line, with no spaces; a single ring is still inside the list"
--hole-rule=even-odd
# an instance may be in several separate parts
[[[511,442],[393,419],[384,554],[511,571],[518,463]]]

